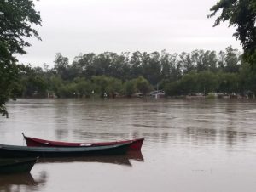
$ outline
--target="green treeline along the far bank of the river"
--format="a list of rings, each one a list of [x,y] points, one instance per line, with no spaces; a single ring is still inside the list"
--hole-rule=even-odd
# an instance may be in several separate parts
[[[218,54],[209,50],[79,54],[72,62],[56,54],[54,62],[53,68],[45,64],[44,69],[23,67],[15,82],[18,97],[101,97],[113,93],[131,97],[156,88],[166,96],[256,93],[256,72],[232,47]]]

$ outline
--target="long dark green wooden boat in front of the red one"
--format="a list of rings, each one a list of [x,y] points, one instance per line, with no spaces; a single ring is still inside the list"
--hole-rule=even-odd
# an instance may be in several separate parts
[[[130,143],[96,147],[26,147],[0,144],[0,158],[26,157],[67,157],[87,155],[121,155],[125,154]]]

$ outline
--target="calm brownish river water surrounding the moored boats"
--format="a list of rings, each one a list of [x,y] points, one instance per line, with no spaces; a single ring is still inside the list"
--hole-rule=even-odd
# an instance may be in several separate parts
[[[32,176],[45,180],[21,184],[27,191],[255,191],[255,100],[20,99],[8,109],[2,144],[25,145],[22,132],[67,142],[145,138],[143,155],[40,160]]]

